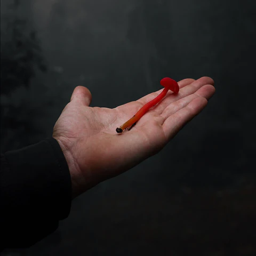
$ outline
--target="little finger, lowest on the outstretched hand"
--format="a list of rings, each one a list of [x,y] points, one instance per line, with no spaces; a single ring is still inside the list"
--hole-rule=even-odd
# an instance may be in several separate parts
[[[180,109],[163,123],[163,131],[166,139],[169,141],[177,134],[183,126],[198,115],[207,105],[207,100],[203,97],[197,97],[186,107]]]

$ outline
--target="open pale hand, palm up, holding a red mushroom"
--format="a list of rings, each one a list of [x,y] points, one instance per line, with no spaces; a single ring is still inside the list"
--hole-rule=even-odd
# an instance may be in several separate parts
[[[67,159],[73,198],[157,154],[201,112],[215,92],[210,77],[183,79],[178,94],[167,93],[130,131],[116,127],[130,119],[163,89],[114,109],[89,107],[92,95],[77,86],[53,129]]]

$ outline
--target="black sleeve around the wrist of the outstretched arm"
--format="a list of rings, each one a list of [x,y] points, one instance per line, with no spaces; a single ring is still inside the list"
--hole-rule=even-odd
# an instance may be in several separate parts
[[[70,173],[57,140],[1,154],[1,250],[37,243],[58,228],[70,207]]]

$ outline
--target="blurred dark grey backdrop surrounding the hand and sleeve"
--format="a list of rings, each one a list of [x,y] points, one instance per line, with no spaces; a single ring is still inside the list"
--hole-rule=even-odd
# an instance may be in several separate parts
[[[108,108],[164,76],[216,87],[159,154],[76,198],[54,234],[3,255],[255,255],[255,10],[249,0],[1,0],[2,152],[50,137],[77,85]]]

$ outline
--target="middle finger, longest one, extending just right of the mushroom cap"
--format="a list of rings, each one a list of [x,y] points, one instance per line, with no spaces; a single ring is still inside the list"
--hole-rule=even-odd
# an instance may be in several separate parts
[[[178,94],[173,94],[172,92],[170,92],[169,94],[167,93],[165,98],[151,110],[155,111],[157,114],[162,114],[164,109],[168,107],[171,103],[195,93],[197,90],[199,90],[206,84],[213,86],[213,79],[210,77],[201,77],[193,83],[182,87]]]

